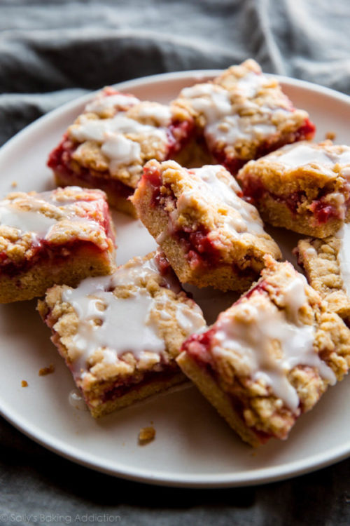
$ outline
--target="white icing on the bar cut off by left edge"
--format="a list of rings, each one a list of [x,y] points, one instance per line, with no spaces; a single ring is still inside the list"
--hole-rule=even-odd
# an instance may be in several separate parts
[[[83,189],[70,187],[71,191],[80,194]],[[30,232],[33,242],[40,239],[50,240],[57,235],[59,230],[66,232],[68,220],[76,229],[75,234],[80,239],[90,239],[92,231],[101,231],[98,222],[79,217],[76,213],[76,204],[79,201],[70,198],[59,197],[57,191],[45,191],[36,195],[25,194],[15,199],[4,199],[0,201],[0,225],[18,229],[22,233]],[[55,207],[52,213],[55,217],[45,215],[41,210],[43,206]],[[27,210],[29,208],[29,210]],[[78,234],[77,234],[78,233]]]

